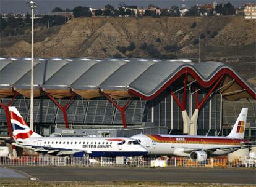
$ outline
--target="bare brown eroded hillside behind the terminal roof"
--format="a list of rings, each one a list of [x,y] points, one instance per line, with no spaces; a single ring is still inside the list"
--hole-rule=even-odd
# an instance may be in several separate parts
[[[201,58],[224,60],[238,71],[246,62],[242,69],[250,68],[241,74],[254,83],[255,33],[255,21],[244,17],[75,18],[36,31],[35,57],[197,58],[201,35]],[[0,44],[0,56],[30,56],[30,34],[1,38]]]

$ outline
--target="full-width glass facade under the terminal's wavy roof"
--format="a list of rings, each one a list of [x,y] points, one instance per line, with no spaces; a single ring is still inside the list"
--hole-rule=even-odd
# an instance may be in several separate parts
[[[182,94],[176,94],[179,100],[182,100]],[[202,101],[205,95],[198,94],[199,101]],[[1,102],[7,105],[11,99],[4,98]],[[58,100],[64,106],[69,100]],[[116,101],[123,106],[127,100]],[[64,119],[61,109],[54,105],[53,101],[45,98],[36,98],[34,101],[34,120],[37,132],[45,132],[45,128],[50,128],[58,124],[64,127]],[[12,106],[16,106],[24,119],[29,122],[29,105],[30,100],[19,97],[14,100]],[[249,136],[256,136],[256,101],[255,100],[239,100],[228,101],[223,98],[222,117],[221,117],[221,96],[213,95],[200,110],[197,122],[198,135],[227,135],[230,128],[237,119],[243,107],[249,108],[247,116],[247,127]],[[189,98],[187,94],[186,111],[189,117],[195,110],[194,97]],[[67,117],[70,127],[89,127],[90,125],[122,125],[121,114],[112,103],[106,99],[98,98],[95,100],[85,100],[77,97],[67,108]],[[173,119],[173,121],[172,121]],[[181,109],[176,101],[163,92],[159,97],[151,101],[134,100],[126,109],[126,121],[128,125],[140,126],[144,123],[153,123],[156,127],[167,127],[171,133],[183,132],[183,119]],[[220,133],[220,129],[222,130]],[[0,107],[0,135],[7,135],[6,114],[4,109]]]

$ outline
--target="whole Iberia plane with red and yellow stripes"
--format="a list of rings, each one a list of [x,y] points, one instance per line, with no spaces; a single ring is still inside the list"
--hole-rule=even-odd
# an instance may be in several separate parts
[[[253,146],[244,139],[247,113],[248,108],[242,108],[227,137],[139,134],[130,138],[139,141],[148,150],[148,155],[184,156],[204,161],[209,156],[221,156]]]

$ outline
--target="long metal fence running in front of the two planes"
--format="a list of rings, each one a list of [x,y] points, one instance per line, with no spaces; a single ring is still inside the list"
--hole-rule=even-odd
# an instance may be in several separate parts
[[[55,157],[55,156],[22,156],[10,159],[0,157],[0,166],[78,166],[78,167],[155,167],[161,161],[163,167],[256,167],[255,159],[210,158],[202,162],[183,157],[151,158],[151,157]],[[155,166],[154,166],[155,165]]]

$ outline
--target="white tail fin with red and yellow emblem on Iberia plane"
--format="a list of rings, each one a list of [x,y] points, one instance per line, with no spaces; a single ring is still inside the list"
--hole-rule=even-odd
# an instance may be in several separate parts
[[[229,133],[228,137],[232,138],[244,138],[245,124],[247,119],[248,108],[242,108],[233,129]]]

